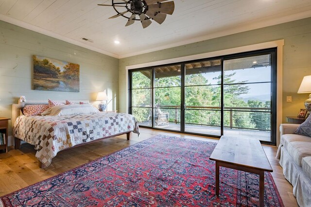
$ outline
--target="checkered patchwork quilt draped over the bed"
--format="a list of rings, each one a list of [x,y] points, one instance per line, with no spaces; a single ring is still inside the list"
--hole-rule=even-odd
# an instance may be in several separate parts
[[[138,123],[131,114],[100,112],[69,116],[19,116],[13,133],[35,145],[35,156],[45,166],[66,148],[99,138],[133,131],[139,135]]]

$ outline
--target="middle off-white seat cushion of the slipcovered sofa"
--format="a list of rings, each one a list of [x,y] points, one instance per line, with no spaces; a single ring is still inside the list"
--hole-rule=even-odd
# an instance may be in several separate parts
[[[287,151],[293,157],[295,163],[301,166],[302,158],[311,156],[311,142],[292,141],[287,145]]]

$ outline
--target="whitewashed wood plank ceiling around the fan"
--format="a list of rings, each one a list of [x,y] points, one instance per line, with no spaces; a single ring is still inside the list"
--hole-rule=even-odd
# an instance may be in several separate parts
[[[172,16],[146,29],[140,22],[125,27],[124,17],[108,19],[116,14],[114,9],[97,4],[110,0],[0,0],[0,19],[122,58],[311,17],[311,0],[174,2]]]

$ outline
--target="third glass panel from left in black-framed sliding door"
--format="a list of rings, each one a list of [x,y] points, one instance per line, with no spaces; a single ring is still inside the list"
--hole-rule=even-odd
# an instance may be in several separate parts
[[[221,136],[222,60],[185,64],[185,132]]]

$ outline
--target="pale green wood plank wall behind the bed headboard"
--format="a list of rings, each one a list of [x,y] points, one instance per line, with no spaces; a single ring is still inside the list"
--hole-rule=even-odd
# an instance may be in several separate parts
[[[32,90],[34,54],[79,64],[80,92]],[[118,68],[117,58],[0,21],[0,116],[11,118],[12,104],[21,95],[28,100],[94,101],[101,90],[107,90],[112,99],[108,109],[116,110]],[[11,121],[9,125],[11,129]]]

